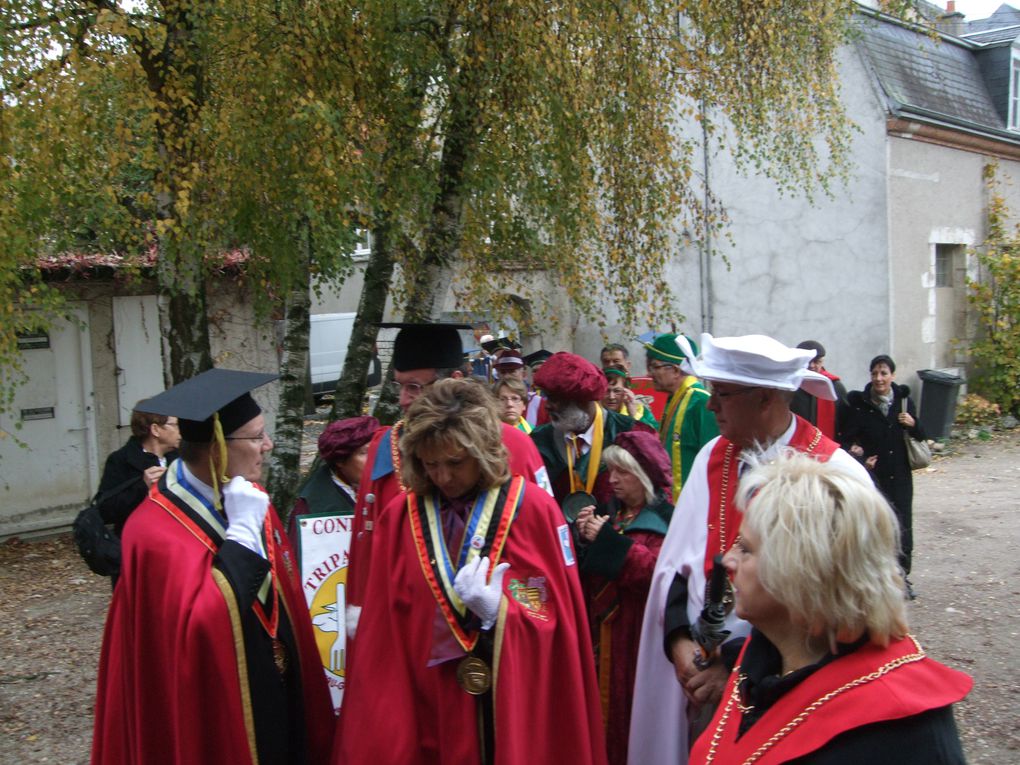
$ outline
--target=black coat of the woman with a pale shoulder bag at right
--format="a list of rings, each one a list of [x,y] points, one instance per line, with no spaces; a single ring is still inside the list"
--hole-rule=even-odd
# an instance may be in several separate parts
[[[870,382],[863,391],[852,391],[847,397],[839,441],[848,451],[853,445],[859,445],[864,449],[865,459],[878,455],[871,475],[898,514],[909,517],[914,501],[914,479],[907,460],[907,445],[904,443],[904,435],[908,429],[897,421],[903,411],[905,399],[907,413],[914,418],[914,427],[909,429],[911,437],[922,440],[925,435],[917,418],[917,407],[910,398],[910,389],[894,382],[892,394],[888,414],[882,414],[871,402]]]

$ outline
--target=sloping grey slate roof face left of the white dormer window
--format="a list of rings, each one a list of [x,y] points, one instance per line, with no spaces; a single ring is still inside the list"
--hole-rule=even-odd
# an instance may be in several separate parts
[[[896,114],[1005,131],[972,46],[861,17],[860,47]],[[1020,139],[1020,137],[1017,137]]]

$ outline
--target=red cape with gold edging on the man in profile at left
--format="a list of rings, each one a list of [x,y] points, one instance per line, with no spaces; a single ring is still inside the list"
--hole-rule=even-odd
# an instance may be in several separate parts
[[[263,538],[271,568],[218,538],[167,489],[167,476],[132,514],[99,663],[93,763],[266,765],[328,756],[333,705],[275,511]],[[270,570],[275,588],[262,615],[277,615],[283,672],[253,600]]]

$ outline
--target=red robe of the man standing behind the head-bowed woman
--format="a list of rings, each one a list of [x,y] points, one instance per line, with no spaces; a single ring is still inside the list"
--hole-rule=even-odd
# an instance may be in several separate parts
[[[402,427],[403,422],[401,420],[394,427]],[[507,448],[509,455],[510,472],[544,483],[545,480],[540,479],[540,476],[545,475],[546,468],[530,437],[506,423],[500,424],[503,428],[503,446]],[[375,518],[382,508],[404,491],[400,481],[400,455],[392,437],[393,429],[380,427],[372,436],[365,458],[365,470],[358,484],[347,569],[349,606],[357,607],[365,602],[365,575],[371,566]]]

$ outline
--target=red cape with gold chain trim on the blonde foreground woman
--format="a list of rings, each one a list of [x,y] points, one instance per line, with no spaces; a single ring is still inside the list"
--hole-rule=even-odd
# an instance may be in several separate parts
[[[737,740],[736,678],[747,650],[745,645],[715,717],[691,751],[690,765],[745,762],[761,748],[756,765],[789,762],[847,730],[955,704],[973,685],[963,672],[928,659],[909,635],[887,648],[868,644],[810,674]]]

